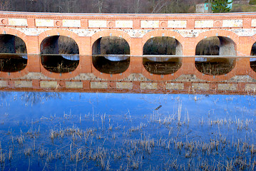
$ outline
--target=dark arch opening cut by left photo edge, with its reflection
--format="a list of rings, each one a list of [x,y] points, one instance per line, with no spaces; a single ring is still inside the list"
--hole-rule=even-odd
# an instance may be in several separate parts
[[[0,35],[0,71],[22,71],[27,65],[25,42],[14,35]]]

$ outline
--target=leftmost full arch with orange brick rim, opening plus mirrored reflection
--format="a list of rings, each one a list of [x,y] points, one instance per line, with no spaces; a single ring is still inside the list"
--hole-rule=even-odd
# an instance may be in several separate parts
[[[44,75],[71,78],[80,73],[79,51],[82,45],[76,33],[61,29],[48,30],[39,35],[39,43],[41,72]]]

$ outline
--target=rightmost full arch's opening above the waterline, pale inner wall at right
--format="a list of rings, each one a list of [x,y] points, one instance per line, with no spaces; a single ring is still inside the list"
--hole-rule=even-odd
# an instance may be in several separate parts
[[[213,36],[204,38],[195,49],[196,56],[236,56],[235,42],[231,38]]]

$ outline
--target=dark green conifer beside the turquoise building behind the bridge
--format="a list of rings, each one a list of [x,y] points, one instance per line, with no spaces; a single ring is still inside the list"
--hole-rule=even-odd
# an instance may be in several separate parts
[[[213,0],[212,1],[212,11],[214,13],[225,13],[230,11],[230,7],[228,6],[231,4],[232,1],[228,0]]]

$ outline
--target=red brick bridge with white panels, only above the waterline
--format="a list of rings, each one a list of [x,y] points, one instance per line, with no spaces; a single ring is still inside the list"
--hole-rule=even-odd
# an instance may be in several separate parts
[[[235,42],[237,56],[250,56],[256,35],[255,13],[76,16],[1,11],[0,19],[0,33],[19,36],[26,43],[28,52],[34,54],[39,53],[43,38],[54,35],[70,36],[78,45],[81,44],[80,48],[83,46],[88,49],[81,50],[81,55],[91,55],[95,37],[119,36],[130,42],[130,53],[135,56],[142,55],[145,43],[143,40],[155,36],[170,36],[180,42],[183,56],[193,56],[200,40],[210,36],[223,36]],[[91,43],[85,45],[84,42]],[[141,44],[138,45],[138,42]]]

